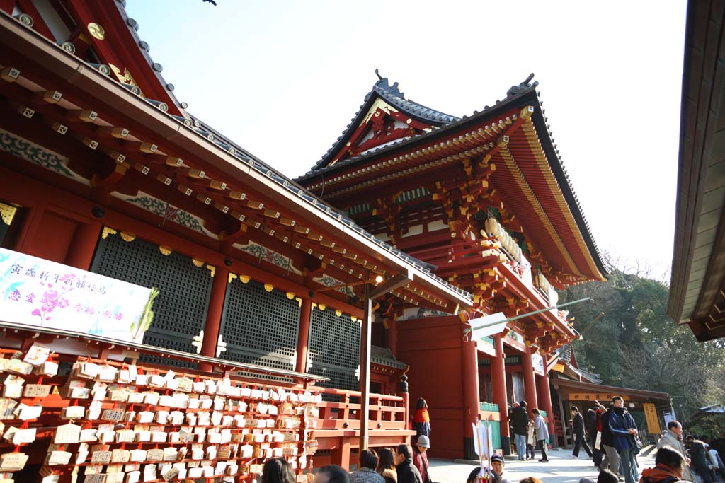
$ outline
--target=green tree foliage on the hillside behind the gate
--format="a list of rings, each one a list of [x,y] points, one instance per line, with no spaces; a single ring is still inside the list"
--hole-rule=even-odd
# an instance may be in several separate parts
[[[591,297],[571,306],[576,360],[605,385],[668,392],[680,418],[709,404],[724,403],[725,341],[698,343],[689,327],[666,314],[665,285],[614,270],[608,282],[568,287],[560,301]],[[604,312],[594,324],[593,319]]]

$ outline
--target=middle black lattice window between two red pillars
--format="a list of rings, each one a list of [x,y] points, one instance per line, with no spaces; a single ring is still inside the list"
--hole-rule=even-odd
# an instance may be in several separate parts
[[[226,343],[221,358],[294,370],[299,303],[279,290],[234,279],[227,285],[220,334]]]

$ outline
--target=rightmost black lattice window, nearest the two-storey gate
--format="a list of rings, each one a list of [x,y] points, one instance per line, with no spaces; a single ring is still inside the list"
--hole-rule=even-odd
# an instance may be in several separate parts
[[[312,311],[310,364],[307,372],[330,378],[326,387],[357,390],[360,366],[360,322],[349,316],[337,316],[333,310]]]

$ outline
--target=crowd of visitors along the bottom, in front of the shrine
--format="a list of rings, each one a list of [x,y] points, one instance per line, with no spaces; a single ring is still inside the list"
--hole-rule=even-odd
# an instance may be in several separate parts
[[[516,454],[520,461],[531,461],[538,448],[539,459],[548,463],[546,440],[547,424],[537,408],[526,410],[526,401],[514,403],[510,412]],[[662,434],[655,455],[655,466],[637,470],[637,454],[641,448],[637,424],[624,407],[624,400],[616,396],[608,407],[598,401],[584,415],[579,408],[571,408],[573,458],[579,458],[581,448],[599,469],[597,479],[582,478],[580,483],[714,483],[718,472],[725,479],[725,465],[717,451],[695,437],[683,437],[682,424],[670,421]],[[312,483],[434,483],[428,471],[428,448],[431,448],[431,419],[428,404],[418,399],[413,416],[415,437],[413,446],[397,445],[378,451],[360,451],[357,471],[352,474],[336,465],[318,469]],[[504,476],[505,460],[494,454],[489,461],[490,471],[484,480],[488,483],[510,483]],[[476,466],[466,483],[481,483],[482,470]],[[696,476],[696,478],[695,478]],[[261,483],[296,483],[294,471],[284,458],[268,460],[263,469]],[[542,483],[535,476],[518,483]]]

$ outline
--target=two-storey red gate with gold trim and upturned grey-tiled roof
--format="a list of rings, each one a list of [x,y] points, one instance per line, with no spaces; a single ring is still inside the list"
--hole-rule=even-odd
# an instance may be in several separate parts
[[[473,294],[473,309],[458,314],[390,298],[374,340],[410,364],[411,401],[428,402],[436,457],[475,459],[471,422],[479,417],[494,420],[494,444],[508,454],[513,400],[542,408],[555,434],[546,361],[577,337],[566,312],[523,317],[485,337],[465,329],[481,314],[555,307],[557,289],[608,273],[531,77],[463,118],[413,102],[380,78],[297,179]]]

